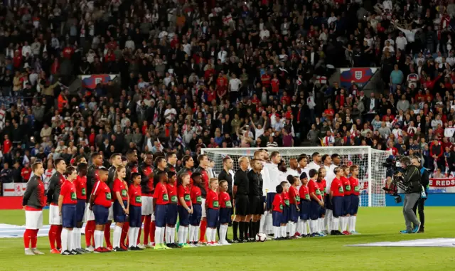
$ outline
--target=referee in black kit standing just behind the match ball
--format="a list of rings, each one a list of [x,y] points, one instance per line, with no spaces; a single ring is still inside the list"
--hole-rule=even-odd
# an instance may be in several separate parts
[[[252,169],[248,172],[248,181],[250,181],[250,216],[247,221],[251,221],[250,240],[255,240],[259,233],[259,221],[264,213],[264,201],[262,201],[262,161],[259,159],[251,160]]]

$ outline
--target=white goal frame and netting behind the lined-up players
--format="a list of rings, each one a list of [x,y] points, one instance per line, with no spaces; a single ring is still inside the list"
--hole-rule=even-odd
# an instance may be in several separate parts
[[[209,159],[215,161],[215,174],[220,174],[223,169],[223,158],[230,156],[234,161],[234,171],[240,169],[238,159],[241,156],[248,156],[252,159],[253,154],[259,148],[208,148],[201,149],[202,154],[206,154]],[[360,182],[360,206],[385,206],[385,191],[382,187],[385,185],[385,162],[390,152],[378,151],[371,147],[292,147],[292,148],[269,148],[269,152],[278,151],[289,166],[289,159],[298,158],[301,154],[309,156],[319,152],[323,154],[338,154],[341,158],[341,165],[359,166]]]

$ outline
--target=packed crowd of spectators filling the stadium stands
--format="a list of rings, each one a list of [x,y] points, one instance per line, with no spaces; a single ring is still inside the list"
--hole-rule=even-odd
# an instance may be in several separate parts
[[[36,159],[50,178],[53,160],[93,152],[173,151],[179,169],[205,147],[300,144],[455,170],[453,0],[5,3],[1,183],[27,181]],[[385,90],[326,80],[365,66]],[[70,92],[77,74],[121,80]]]

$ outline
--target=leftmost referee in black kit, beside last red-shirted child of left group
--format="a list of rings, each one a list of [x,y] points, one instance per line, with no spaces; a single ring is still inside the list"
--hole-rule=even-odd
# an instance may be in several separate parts
[[[234,243],[243,243],[245,240],[245,232],[248,229],[246,216],[250,214],[248,194],[250,193],[250,184],[248,181],[247,170],[250,161],[247,156],[239,158],[240,169],[234,175],[234,187],[232,188],[232,196],[235,198],[235,218],[232,223],[234,231]],[[240,238],[237,238],[237,228],[239,228]]]

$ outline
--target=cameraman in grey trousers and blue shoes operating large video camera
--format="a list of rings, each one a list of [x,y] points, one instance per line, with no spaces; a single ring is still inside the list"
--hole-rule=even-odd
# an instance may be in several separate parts
[[[403,157],[400,160],[402,168],[405,170],[403,173],[398,173],[402,176],[402,184],[407,188],[405,190],[405,201],[403,202],[403,216],[405,216],[406,230],[400,233],[417,233],[420,228],[420,222],[417,220],[413,208],[420,198],[422,192],[422,185],[420,184],[420,171],[417,166],[411,163],[409,157]],[[414,224],[414,228],[412,227]]]

